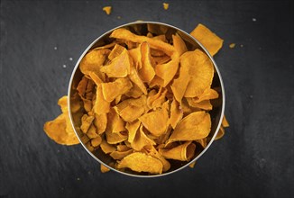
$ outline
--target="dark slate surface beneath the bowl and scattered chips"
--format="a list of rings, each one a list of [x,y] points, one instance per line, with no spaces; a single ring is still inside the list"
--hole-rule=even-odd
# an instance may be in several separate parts
[[[0,2],[0,197],[294,197],[290,1],[167,1],[168,11],[162,1]],[[60,113],[87,45],[136,20],[185,31],[204,23],[225,40],[216,62],[231,127],[194,169],[152,179],[101,174],[80,145],[60,146],[42,130]]]

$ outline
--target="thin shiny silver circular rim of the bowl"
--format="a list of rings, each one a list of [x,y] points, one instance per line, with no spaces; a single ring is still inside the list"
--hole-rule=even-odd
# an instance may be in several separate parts
[[[76,131],[76,128],[75,128],[75,125],[73,123],[73,118],[72,118],[72,115],[71,115],[71,108],[70,108],[70,95],[71,95],[71,86],[72,86],[72,82],[73,82],[73,79],[74,79],[74,76],[77,72],[77,69],[78,69],[78,66],[79,66],[79,63],[81,61],[82,58],[84,58],[84,56],[87,54],[87,51],[89,49],[91,49],[98,40],[104,38],[106,36],[106,34],[109,34],[110,32],[112,31],[115,31],[116,29],[119,29],[119,28],[124,28],[124,27],[127,27],[127,26],[130,26],[130,25],[135,25],[135,24],[147,24],[147,23],[152,23],[152,24],[158,24],[158,25],[163,25],[163,26],[168,26],[170,28],[173,28],[177,31],[181,31],[182,33],[186,34],[186,36],[188,36],[190,39],[194,40],[196,43],[198,43],[199,47],[201,49],[203,49],[205,51],[205,53],[207,54],[208,58],[210,58],[210,60],[212,61],[215,69],[216,69],[216,73],[217,73],[217,76],[219,78],[219,82],[220,82],[220,85],[221,85],[221,90],[222,90],[222,109],[221,109],[221,114],[220,114],[220,119],[218,121],[218,124],[216,126],[216,131],[218,131],[220,129],[220,126],[221,126],[221,123],[222,123],[222,120],[223,120],[223,117],[224,117],[224,114],[225,114],[225,86],[224,86],[224,82],[223,82],[223,78],[220,74],[220,71],[216,65],[216,61],[214,60],[214,58],[210,55],[210,53],[208,52],[208,50],[200,43],[200,41],[198,41],[197,39],[195,39],[193,36],[191,36],[188,32],[186,31],[183,31],[181,29],[179,29],[178,27],[175,27],[173,25],[170,25],[168,23],[161,23],[161,22],[152,22],[152,21],[138,21],[138,22],[133,22],[133,23],[124,23],[122,25],[119,25],[119,26],[116,26],[115,28],[109,30],[109,31],[106,31],[105,33],[101,34],[99,37],[96,38],[96,40],[93,40],[88,46],[87,48],[84,50],[84,52],[80,55],[80,57],[78,58],[78,61],[76,63],[76,66],[73,68],[72,70],[72,73],[71,73],[71,76],[70,76],[70,80],[69,80],[69,89],[68,89],[68,109],[69,109],[69,120],[70,120],[70,123],[71,123],[71,126],[73,128],[73,130],[75,131],[76,133],[76,136],[78,137],[78,140],[80,142],[80,144],[83,146],[83,148],[85,148],[87,150],[87,153],[91,156],[91,157],[94,157],[96,159],[97,162],[99,162],[100,164],[108,167],[110,170],[113,170],[115,171],[116,173],[119,173],[119,174],[123,174],[123,175],[128,175],[128,176],[134,176],[134,177],[142,177],[142,178],[151,178],[151,177],[159,177],[159,176],[163,176],[163,175],[170,175],[170,174],[173,174],[173,173],[176,173],[178,172],[179,170],[182,170],[184,169],[185,167],[189,166],[191,163],[193,162],[196,162],[198,160],[199,157],[201,157],[206,151],[207,149],[212,145],[214,139],[216,139],[216,135],[217,135],[217,132],[215,131],[215,134],[212,136],[212,138],[210,139],[209,143],[207,144],[207,147],[204,148],[199,154],[197,157],[195,157],[193,160],[189,161],[186,165],[184,166],[180,166],[179,168],[175,169],[175,170],[172,170],[170,172],[166,172],[166,173],[162,173],[162,174],[157,174],[157,175],[135,175],[135,174],[130,174],[130,173],[125,173],[124,171],[120,171],[120,170],[117,170],[115,169],[114,167],[112,166],[108,166],[106,165],[103,161],[101,161],[98,157],[96,157],[91,151],[89,151],[86,147],[86,145],[81,141],[81,139],[79,138],[78,136],[78,132]]]

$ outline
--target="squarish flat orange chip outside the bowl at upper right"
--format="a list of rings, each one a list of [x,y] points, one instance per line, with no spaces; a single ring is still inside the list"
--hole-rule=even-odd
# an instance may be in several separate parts
[[[211,56],[214,56],[223,46],[224,40],[201,23],[190,34],[201,42]]]

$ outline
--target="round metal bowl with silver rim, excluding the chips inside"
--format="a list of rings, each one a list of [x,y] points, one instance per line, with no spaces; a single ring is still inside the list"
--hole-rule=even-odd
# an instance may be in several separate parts
[[[78,82],[80,81],[80,79],[83,76],[83,74],[80,72],[78,66],[79,66],[79,62],[81,61],[81,59],[87,54],[87,51],[90,49],[94,49],[96,47],[103,46],[103,45],[110,43],[112,39],[109,38],[109,35],[112,33],[112,31],[114,31],[115,29],[118,29],[118,28],[126,28],[130,31],[140,30],[142,32],[142,35],[146,35],[147,24],[152,24],[154,26],[158,26],[159,29],[161,28],[161,26],[165,26],[165,28],[168,28],[167,36],[169,36],[169,35],[171,36],[174,33],[178,33],[181,36],[181,38],[186,42],[188,50],[201,49],[203,52],[205,52],[215,67],[215,75],[213,78],[212,87],[217,87],[218,88],[217,91],[219,93],[218,99],[213,101],[213,103],[214,103],[213,110],[209,112],[210,116],[211,116],[211,131],[208,135],[207,147],[201,148],[200,145],[197,145],[195,155],[189,162],[170,160],[170,170],[168,172],[161,174],[161,175],[150,175],[147,173],[137,173],[132,170],[124,170],[124,172],[121,170],[117,170],[117,169],[115,169],[115,160],[112,157],[110,157],[109,155],[106,155],[101,150],[101,148],[98,148],[94,151],[90,151],[89,149],[87,149],[85,142],[84,142],[85,140],[81,138],[83,135],[83,132],[79,129],[79,126],[81,123],[81,121],[80,121],[81,116],[83,115],[84,110],[77,111],[77,110],[73,109],[75,106],[75,103],[79,103],[79,100],[77,100],[76,88],[78,86]],[[138,176],[138,177],[155,177],[155,176],[162,176],[162,175],[170,175],[172,173],[175,173],[175,172],[185,168],[186,166],[188,166],[192,162],[198,160],[199,157],[201,157],[207,151],[209,146],[212,144],[212,142],[216,138],[217,131],[220,128],[221,121],[223,119],[224,112],[225,112],[225,89],[224,89],[222,77],[221,77],[220,72],[216,66],[215,60],[209,55],[207,49],[205,49],[203,47],[203,45],[201,45],[201,43],[198,40],[196,40],[195,38],[190,36],[186,31],[182,31],[179,28],[176,28],[176,27],[171,26],[166,23],[157,23],[157,22],[127,23],[127,24],[121,25],[119,27],[116,27],[115,29],[107,31],[106,33],[104,33],[103,35],[98,37],[96,40],[94,40],[87,47],[87,49],[85,49],[85,51],[82,53],[80,58],[78,58],[78,62],[76,64],[75,68],[73,69],[73,72],[72,72],[72,75],[71,75],[70,81],[69,81],[69,94],[68,94],[69,101],[68,101],[68,103],[69,103],[69,117],[70,117],[71,124],[72,124],[73,129],[75,130],[75,132],[78,136],[78,139],[79,139],[81,145],[87,150],[88,154],[90,156],[94,157],[100,164],[109,167],[111,170],[114,170],[115,172],[120,173],[120,174],[129,175],[129,176]]]

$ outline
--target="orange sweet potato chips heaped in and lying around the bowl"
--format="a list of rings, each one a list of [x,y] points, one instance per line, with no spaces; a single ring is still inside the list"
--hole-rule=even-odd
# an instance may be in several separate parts
[[[87,148],[101,148],[116,160],[117,169],[161,174],[170,169],[170,159],[189,161],[196,144],[207,146],[211,100],[219,95],[211,87],[214,66],[202,50],[188,50],[177,33],[168,40],[164,26],[147,27],[146,35],[116,29],[110,35],[113,42],[89,50],[81,60],[80,130]],[[212,56],[223,45],[202,24],[191,35]],[[62,114],[46,122],[44,130],[57,143],[78,144],[67,97],[59,104]],[[216,139],[227,126],[224,119]]]

